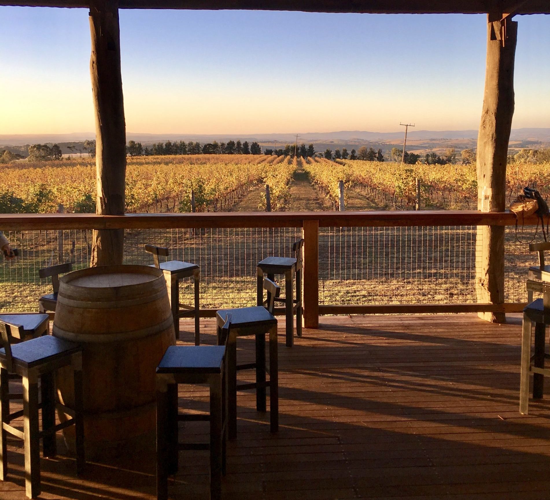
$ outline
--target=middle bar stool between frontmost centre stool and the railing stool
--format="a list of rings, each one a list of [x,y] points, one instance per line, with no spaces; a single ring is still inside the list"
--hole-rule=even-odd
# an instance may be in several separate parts
[[[270,279],[263,280],[267,290],[267,309],[263,306],[222,309],[216,312],[218,345],[227,346],[227,387],[229,439],[237,438],[237,391],[256,389],[256,410],[266,411],[266,387],[270,388],[271,432],[279,427],[279,375],[277,360],[277,318],[273,316],[274,300],[281,288]],[[227,315],[231,316],[229,336],[224,334],[223,325]],[[266,382],[266,334],[270,342],[270,380]],[[237,365],[237,337],[256,337],[256,361]],[[237,371],[256,369],[256,382],[237,385]]]

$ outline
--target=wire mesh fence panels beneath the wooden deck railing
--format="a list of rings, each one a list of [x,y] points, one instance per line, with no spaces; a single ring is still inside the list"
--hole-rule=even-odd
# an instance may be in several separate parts
[[[528,241],[535,228],[524,228]],[[19,248],[0,266],[0,311],[37,310],[51,293],[38,270],[61,262],[89,266],[91,231],[5,232]],[[537,235],[540,237],[540,234]],[[127,229],[125,263],[151,265],[145,244],[167,246],[169,259],[197,263],[201,307],[243,307],[256,301],[256,264],[269,255],[291,256],[300,228]],[[476,227],[331,227],[319,234],[320,304],[445,304],[476,301]],[[536,264],[515,229],[505,230],[505,301],[526,301],[527,268]],[[284,281],[279,278],[284,294]],[[192,303],[191,282],[180,285],[182,303]]]

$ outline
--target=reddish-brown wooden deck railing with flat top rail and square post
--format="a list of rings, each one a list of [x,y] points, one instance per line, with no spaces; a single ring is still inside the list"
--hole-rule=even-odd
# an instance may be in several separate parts
[[[320,228],[345,227],[453,227],[514,226],[513,213],[478,211],[415,212],[224,212],[163,213],[101,216],[95,214],[0,215],[2,230],[50,229],[182,229],[182,228],[301,228],[304,244],[304,323],[315,327],[321,314],[367,314],[407,312],[516,312],[523,303],[480,304],[321,304],[319,303]],[[522,221],[536,225],[536,219]],[[213,311],[205,310],[205,315]]]

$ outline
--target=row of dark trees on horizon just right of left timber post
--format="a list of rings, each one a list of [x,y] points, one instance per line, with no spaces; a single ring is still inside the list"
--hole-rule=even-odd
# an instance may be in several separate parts
[[[128,141],[126,147],[129,156],[164,156],[164,155],[261,155],[262,148],[256,142],[248,141],[200,142],[166,141],[143,147],[141,142]]]

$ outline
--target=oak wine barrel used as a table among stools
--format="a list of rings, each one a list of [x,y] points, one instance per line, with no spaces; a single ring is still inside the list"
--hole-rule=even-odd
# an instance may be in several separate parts
[[[155,369],[175,344],[163,273],[149,266],[100,266],[60,279],[53,335],[83,345],[84,435],[94,457],[128,448],[155,431]],[[57,377],[73,404],[69,369]],[[59,415],[64,419],[63,413]],[[74,427],[64,430],[72,448]]]

